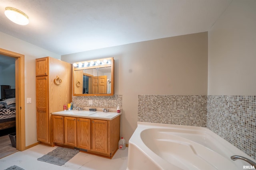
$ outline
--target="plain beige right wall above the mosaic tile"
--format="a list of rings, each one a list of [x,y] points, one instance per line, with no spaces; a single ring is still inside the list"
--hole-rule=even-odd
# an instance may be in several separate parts
[[[256,95],[256,1],[233,0],[208,32],[208,95]]]

